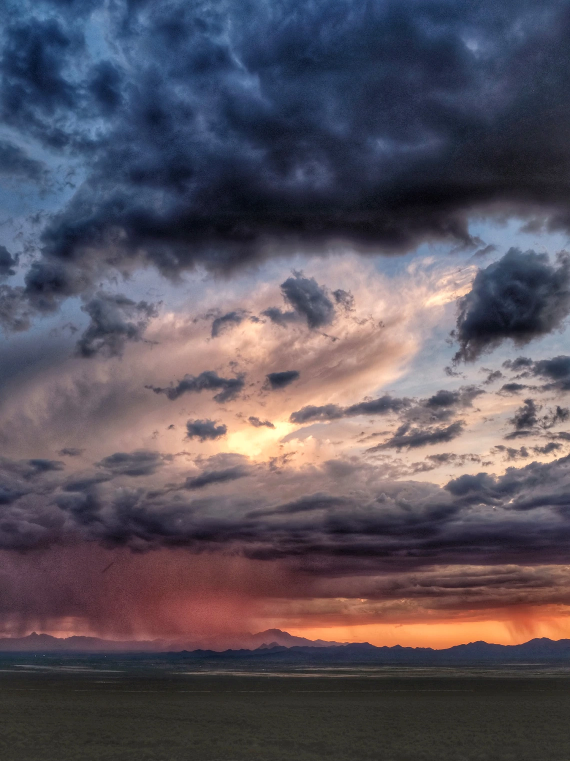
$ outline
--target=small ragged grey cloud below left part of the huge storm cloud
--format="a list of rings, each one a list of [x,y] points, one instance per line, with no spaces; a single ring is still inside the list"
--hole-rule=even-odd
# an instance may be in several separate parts
[[[122,294],[98,293],[81,310],[90,317],[87,330],[78,340],[81,357],[122,355],[127,341],[141,341],[152,317],[157,317],[155,304],[131,301]]]

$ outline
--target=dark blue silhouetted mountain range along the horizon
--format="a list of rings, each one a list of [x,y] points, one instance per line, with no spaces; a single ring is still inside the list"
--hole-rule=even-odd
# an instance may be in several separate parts
[[[271,634],[279,630],[271,630]],[[270,632],[249,635],[262,638]],[[302,639],[279,632],[279,639]],[[311,642],[305,640],[305,642]],[[368,642],[339,645],[321,640],[309,645],[280,645],[277,640],[264,642],[252,649],[204,650],[176,648],[160,640],[152,642],[114,642],[96,637],[57,638],[46,634],[33,634],[21,638],[0,638],[0,653],[116,653],[163,654],[168,658],[187,660],[239,660],[271,661],[273,663],[294,664],[467,664],[467,663],[529,663],[545,661],[568,661],[570,663],[570,639],[552,640],[546,637],[531,639],[523,645],[491,645],[487,642],[470,642],[455,645],[444,650],[432,648],[375,647]]]

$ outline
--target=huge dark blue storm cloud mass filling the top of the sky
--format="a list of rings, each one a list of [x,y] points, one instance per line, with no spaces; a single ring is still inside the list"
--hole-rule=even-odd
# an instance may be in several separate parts
[[[86,179],[0,298],[52,310],[109,270],[225,271],[276,242],[467,243],[496,203],[568,229],[565,2],[100,8],[3,5],[0,116]],[[8,140],[0,168],[43,171]],[[461,357],[486,335],[466,323]]]

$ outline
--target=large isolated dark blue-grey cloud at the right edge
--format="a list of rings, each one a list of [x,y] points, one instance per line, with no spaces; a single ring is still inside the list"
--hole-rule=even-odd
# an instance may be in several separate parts
[[[570,313],[570,257],[511,248],[481,269],[459,300],[454,361],[473,361],[506,339],[524,345],[562,325]]]

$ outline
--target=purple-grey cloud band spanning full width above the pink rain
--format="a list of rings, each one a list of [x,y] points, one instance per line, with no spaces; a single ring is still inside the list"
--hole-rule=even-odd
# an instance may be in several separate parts
[[[301,564],[337,558],[376,570],[568,562],[570,457],[499,477],[460,476],[443,489],[382,479],[366,463],[333,461],[303,474],[223,454],[198,461],[198,473],[173,491],[156,488],[154,464],[162,461],[119,453],[98,463],[99,479],[93,472],[73,480],[57,461],[4,458],[0,546],[82,537],[133,549],[227,547]],[[244,477],[252,479],[247,492],[234,492],[232,482]]]

